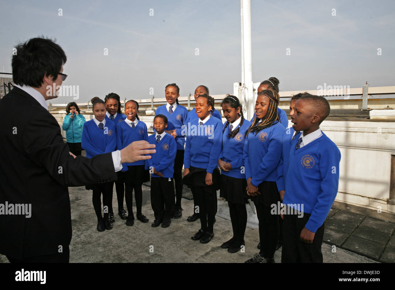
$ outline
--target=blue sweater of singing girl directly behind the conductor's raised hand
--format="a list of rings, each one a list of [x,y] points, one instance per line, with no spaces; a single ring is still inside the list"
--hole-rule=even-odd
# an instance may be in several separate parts
[[[117,123],[117,149],[121,150],[134,141],[148,139],[147,125],[139,121],[137,125],[132,128],[126,121]],[[128,170],[128,166],[145,165],[145,160],[139,160],[132,163],[122,163],[122,171]]]

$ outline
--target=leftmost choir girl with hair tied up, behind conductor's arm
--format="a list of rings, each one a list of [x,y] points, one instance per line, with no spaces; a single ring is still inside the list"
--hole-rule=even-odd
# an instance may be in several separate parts
[[[115,125],[109,120],[105,120],[105,104],[103,100],[95,97],[92,99],[93,114],[95,118],[85,122],[82,131],[81,146],[87,152],[87,157],[115,151],[117,140],[115,136]],[[92,203],[98,219],[97,230],[103,232],[105,229],[111,230],[113,224],[109,221],[109,205],[111,204],[112,182],[103,184],[87,185],[86,188],[92,189]],[[102,216],[103,194],[104,217]]]

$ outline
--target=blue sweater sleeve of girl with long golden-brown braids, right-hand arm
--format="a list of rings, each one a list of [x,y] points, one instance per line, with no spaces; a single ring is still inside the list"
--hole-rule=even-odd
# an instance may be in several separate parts
[[[262,183],[278,166],[282,153],[282,133],[284,132],[275,130],[271,132],[267,153],[263,156],[262,162],[259,163],[258,168],[254,170],[255,174],[251,179],[252,185],[260,185],[260,183]]]

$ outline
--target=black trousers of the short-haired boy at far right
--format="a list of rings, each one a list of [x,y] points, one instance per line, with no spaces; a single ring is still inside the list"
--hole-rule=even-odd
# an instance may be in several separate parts
[[[289,211],[287,212],[289,213]],[[310,214],[303,213],[303,217],[298,216],[300,215],[296,213],[284,215],[281,262],[322,263],[321,245],[324,239],[324,224],[316,231],[313,243],[308,244],[301,241],[299,237],[310,218]]]

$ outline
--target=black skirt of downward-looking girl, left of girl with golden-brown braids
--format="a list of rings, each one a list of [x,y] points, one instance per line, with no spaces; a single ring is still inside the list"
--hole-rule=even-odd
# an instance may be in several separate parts
[[[221,174],[220,197],[234,204],[246,204],[245,192],[247,181],[245,178],[235,178]]]

